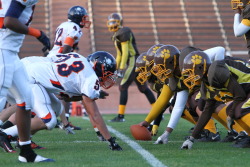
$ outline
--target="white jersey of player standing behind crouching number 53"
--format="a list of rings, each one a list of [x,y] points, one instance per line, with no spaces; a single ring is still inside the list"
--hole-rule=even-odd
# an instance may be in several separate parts
[[[56,29],[54,46],[50,50],[47,57],[51,58],[52,61],[55,61],[53,58],[54,55],[57,53],[62,53],[63,46],[65,44],[72,45],[73,51],[73,49],[78,45],[82,35],[83,33],[79,25],[71,21],[63,22]]]

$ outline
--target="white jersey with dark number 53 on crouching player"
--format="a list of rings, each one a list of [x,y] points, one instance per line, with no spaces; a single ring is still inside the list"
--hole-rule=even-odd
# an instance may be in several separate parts
[[[99,97],[99,79],[87,59],[77,53],[61,54],[55,62],[25,66],[30,81],[41,84],[50,93],[65,93],[70,97],[86,95],[91,99]]]

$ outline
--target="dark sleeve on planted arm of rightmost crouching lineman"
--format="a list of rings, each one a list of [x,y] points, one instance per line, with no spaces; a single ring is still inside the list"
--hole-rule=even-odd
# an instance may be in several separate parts
[[[206,126],[209,119],[211,118],[213,112],[215,111],[215,100],[206,100],[205,108],[199,117],[199,120],[194,128],[192,136],[197,139],[202,131],[202,129]]]

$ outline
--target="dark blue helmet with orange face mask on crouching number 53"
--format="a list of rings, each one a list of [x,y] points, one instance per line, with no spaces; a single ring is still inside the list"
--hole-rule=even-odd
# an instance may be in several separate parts
[[[115,84],[117,79],[116,60],[110,53],[97,51],[89,55],[87,59],[104,89],[108,89]]]

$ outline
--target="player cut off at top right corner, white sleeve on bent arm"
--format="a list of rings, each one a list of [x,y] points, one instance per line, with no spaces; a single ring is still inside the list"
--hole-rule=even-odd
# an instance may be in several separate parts
[[[248,56],[250,56],[250,2],[249,0],[231,0],[231,5],[235,10],[234,35],[236,37],[245,36]]]

